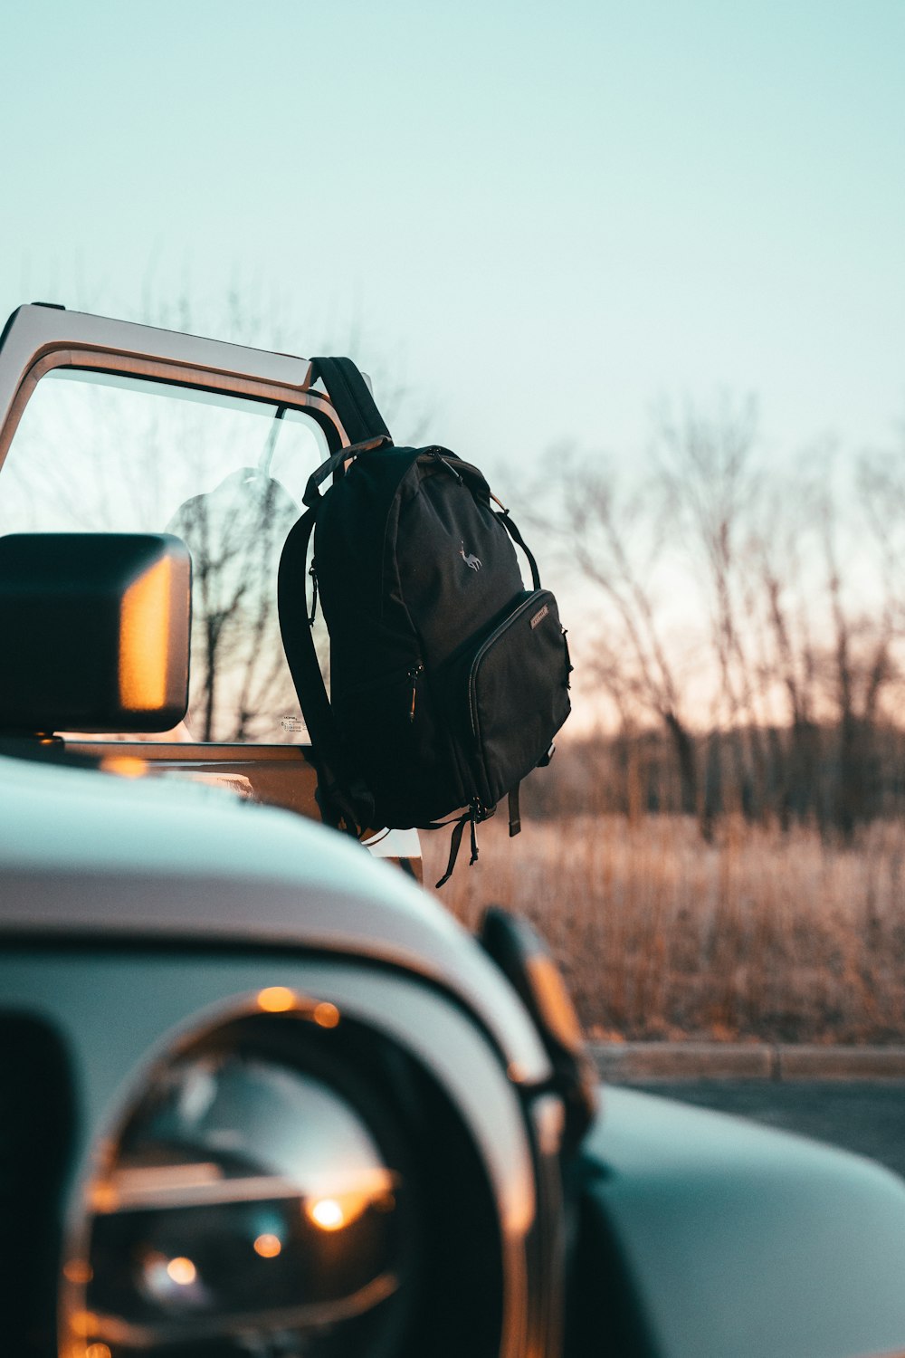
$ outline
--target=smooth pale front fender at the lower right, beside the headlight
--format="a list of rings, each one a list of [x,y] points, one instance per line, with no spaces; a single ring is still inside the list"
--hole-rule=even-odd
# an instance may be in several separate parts
[[[598,1294],[589,1353],[620,1308],[624,1353],[639,1358],[905,1351],[897,1175],[617,1088],[606,1090],[583,1156],[586,1248],[600,1251],[601,1275],[612,1277],[616,1256],[623,1279],[608,1305]]]

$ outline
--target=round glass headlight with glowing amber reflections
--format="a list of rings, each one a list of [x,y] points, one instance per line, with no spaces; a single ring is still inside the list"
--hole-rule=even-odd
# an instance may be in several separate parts
[[[157,1069],[88,1191],[73,1354],[354,1358],[393,1329],[412,1230],[392,1128],[286,1050],[239,1035]]]

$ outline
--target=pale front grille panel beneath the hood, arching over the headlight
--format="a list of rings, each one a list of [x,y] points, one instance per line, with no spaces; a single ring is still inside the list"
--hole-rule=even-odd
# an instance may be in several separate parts
[[[403,971],[303,959],[278,948],[212,956],[179,945],[115,948],[91,940],[90,949],[79,949],[72,942],[9,942],[0,952],[0,994],[4,1008],[49,1023],[68,1050],[81,1114],[72,1161],[76,1190],[91,1171],[91,1143],[115,1134],[155,1061],[206,1027],[255,1012],[258,994],[285,986],[336,1005],[434,1070],[457,1105],[469,1108],[472,1134],[495,1175],[503,1225],[520,1236],[528,1230],[535,1192],[518,1097],[499,1080],[498,1051],[449,995],[438,1004],[436,991]],[[444,1059],[450,1052],[455,1059]]]

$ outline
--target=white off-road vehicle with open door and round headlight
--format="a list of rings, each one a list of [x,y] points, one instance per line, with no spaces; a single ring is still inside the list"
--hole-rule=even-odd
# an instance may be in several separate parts
[[[303,359],[3,333],[1,1351],[905,1353],[900,1179],[598,1100],[517,917],[313,823],[273,587],[345,441]]]

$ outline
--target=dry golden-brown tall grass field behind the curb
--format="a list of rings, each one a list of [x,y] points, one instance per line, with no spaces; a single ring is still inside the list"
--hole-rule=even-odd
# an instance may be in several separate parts
[[[499,816],[505,822],[503,815]],[[425,879],[448,835],[425,835]],[[851,849],[815,831],[616,816],[505,823],[467,837],[441,900],[474,926],[498,902],[528,915],[566,972],[590,1036],[905,1040],[905,827]]]

